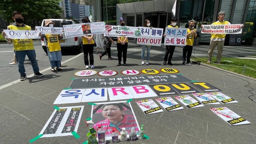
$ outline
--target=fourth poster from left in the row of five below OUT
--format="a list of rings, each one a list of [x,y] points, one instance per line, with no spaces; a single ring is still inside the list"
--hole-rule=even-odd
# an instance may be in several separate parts
[[[220,104],[207,93],[192,93],[202,104]]]

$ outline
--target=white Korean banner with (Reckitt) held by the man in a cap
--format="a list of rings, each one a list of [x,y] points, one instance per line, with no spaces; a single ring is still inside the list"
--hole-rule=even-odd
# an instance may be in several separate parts
[[[241,34],[243,24],[202,25],[202,34]]]

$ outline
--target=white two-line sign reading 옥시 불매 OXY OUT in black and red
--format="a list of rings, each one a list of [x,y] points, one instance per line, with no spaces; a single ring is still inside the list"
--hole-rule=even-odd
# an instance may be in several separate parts
[[[137,44],[149,45],[149,46],[161,46],[163,37],[163,29],[139,27],[141,30],[141,36],[137,39]]]

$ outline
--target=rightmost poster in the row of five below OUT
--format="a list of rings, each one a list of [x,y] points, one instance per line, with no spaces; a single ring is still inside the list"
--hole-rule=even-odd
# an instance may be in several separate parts
[[[215,98],[217,101],[219,101],[222,104],[230,104],[230,103],[238,103],[238,101],[234,100],[233,98],[228,97],[227,95],[224,95],[221,92],[210,92],[208,93],[212,98]]]

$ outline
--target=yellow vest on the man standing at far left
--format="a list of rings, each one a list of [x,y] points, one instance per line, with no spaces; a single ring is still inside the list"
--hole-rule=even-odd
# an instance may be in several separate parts
[[[14,26],[10,25],[7,26],[10,30],[31,30],[30,26],[24,25],[24,26]],[[24,51],[24,50],[33,50],[33,40],[32,39],[12,39],[13,46],[15,51]]]

